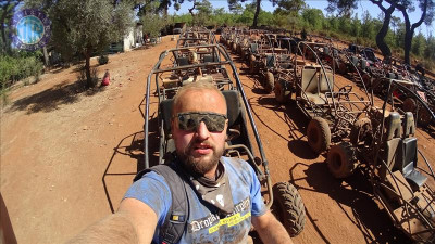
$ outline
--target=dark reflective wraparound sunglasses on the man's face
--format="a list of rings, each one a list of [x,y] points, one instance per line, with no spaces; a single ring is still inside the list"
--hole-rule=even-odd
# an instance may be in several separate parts
[[[212,112],[178,113],[178,128],[185,131],[196,131],[203,121],[210,132],[222,132],[225,129],[226,115]]]

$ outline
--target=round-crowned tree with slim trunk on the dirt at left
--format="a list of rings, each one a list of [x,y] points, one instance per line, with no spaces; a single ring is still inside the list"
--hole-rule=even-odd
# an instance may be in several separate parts
[[[52,43],[63,57],[79,53],[86,60],[87,86],[95,82],[90,74],[90,56],[111,42],[121,40],[130,29],[133,5],[109,0],[57,0],[49,10],[52,21]]]

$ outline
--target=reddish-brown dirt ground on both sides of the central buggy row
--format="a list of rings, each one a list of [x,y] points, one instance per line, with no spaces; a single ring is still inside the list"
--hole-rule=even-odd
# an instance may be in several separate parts
[[[104,69],[111,74],[105,89],[82,91],[71,67],[11,93],[1,114],[0,183],[18,243],[64,242],[109,215],[110,203],[116,209],[144,163],[146,77],[160,52],[174,46],[165,37],[151,49],[110,56],[99,67],[100,76]],[[335,180],[324,157],[308,146],[302,114],[291,104],[278,105],[245,74],[246,65],[237,66],[272,180],[291,181],[306,204],[306,229],[295,243],[406,243],[362,175]],[[421,132],[419,140],[435,152],[433,136]]]

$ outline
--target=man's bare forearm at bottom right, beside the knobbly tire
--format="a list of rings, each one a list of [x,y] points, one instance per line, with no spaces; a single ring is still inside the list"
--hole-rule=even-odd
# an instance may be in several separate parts
[[[293,244],[283,224],[270,210],[262,216],[252,216],[252,224],[263,243]]]

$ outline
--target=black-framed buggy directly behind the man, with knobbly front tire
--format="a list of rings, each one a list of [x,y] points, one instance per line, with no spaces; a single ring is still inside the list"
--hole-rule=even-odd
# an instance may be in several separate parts
[[[189,53],[194,50],[197,53],[208,49],[208,53],[198,54],[199,62],[192,62],[187,65],[181,63],[184,59],[184,52]],[[187,51],[186,51],[187,50]],[[171,59],[167,56],[172,54]],[[212,55],[212,62],[206,62],[204,59]],[[208,56],[209,57],[209,56]],[[228,67],[228,70],[225,68]],[[201,70],[199,74],[191,70]],[[213,73],[220,70],[217,73]],[[232,74],[229,76],[228,74]],[[219,74],[219,75],[216,75]],[[223,74],[226,74],[225,76]],[[223,93],[227,104],[227,141],[225,143],[225,156],[243,158],[253,168],[256,175],[265,192],[263,198],[268,207],[275,202],[278,205],[278,218],[283,221],[291,236],[297,235],[303,229],[304,207],[296,188],[289,182],[278,182],[272,187],[269,171],[269,163],[264,154],[261,139],[259,137],[256,123],[253,120],[248,100],[245,95],[243,85],[239,80],[236,67],[229,59],[227,52],[220,46],[198,46],[182,49],[172,49],[161,53],[156,66],[150,72],[146,87],[146,113],[145,113],[145,167],[150,167],[149,147],[150,147],[150,100],[151,100],[151,80],[156,80],[158,97],[158,130],[152,131],[159,138],[159,159],[154,164],[165,164],[175,152],[174,140],[171,136],[171,117],[173,106],[173,95],[185,82],[190,80],[196,82],[203,77],[203,81],[213,82]],[[215,78],[215,76],[219,77]],[[169,81],[169,80],[170,81]],[[172,80],[172,81],[171,81]],[[171,86],[169,87],[169,84]],[[253,134],[256,147],[249,134]],[[258,152],[258,153],[257,153]]]

